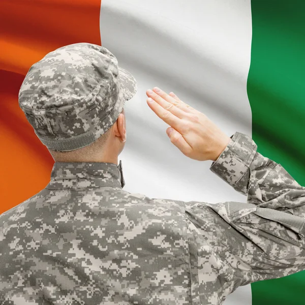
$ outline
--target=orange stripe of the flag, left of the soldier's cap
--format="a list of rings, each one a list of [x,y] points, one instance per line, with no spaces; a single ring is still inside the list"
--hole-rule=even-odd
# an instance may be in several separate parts
[[[18,106],[28,69],[61,46],[101,44],[101,0],[1,1],[0,214],[45,188],[54,160]]]

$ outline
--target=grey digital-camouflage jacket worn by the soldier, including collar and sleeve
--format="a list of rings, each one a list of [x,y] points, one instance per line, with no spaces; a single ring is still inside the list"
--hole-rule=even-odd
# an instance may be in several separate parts
[[[55,163],[0,216],[0,303],[221,304],[305,269],[305,188],[236,132],[210,170],[247,203],[124,191],[121,166]]]

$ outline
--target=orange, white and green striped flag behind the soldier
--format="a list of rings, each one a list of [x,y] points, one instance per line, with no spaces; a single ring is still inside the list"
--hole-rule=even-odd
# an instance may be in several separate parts
[[[2,0],[0,11],[0,212],[43,189],[53,159],[18,106],[32,64],[77,42],[101,44],[138,81],[125,105],[125,190],[151,198],[240,201],[209,170],[187,159],[146,105],[159,86],[204,112],[231,136],[305,185],[305,2],[302,0]],[[301,305],[305,271],[239,287],[226,305]]]

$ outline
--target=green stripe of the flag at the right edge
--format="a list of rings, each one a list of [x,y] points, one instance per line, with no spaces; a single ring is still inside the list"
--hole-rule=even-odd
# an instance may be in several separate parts
[[[247,92],[258,151],[305,186],[305,1],[255,0]],[[305,271],[251,285],[253,305],[301,305]]]

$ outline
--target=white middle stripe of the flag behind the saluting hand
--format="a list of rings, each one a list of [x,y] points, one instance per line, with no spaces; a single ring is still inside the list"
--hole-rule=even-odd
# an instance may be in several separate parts
[[[250,0],[103,0],[100,31],[102,45],[138,81],[137,95],[125,105],[124,189],[151,198],[246,202],[208,170],[210,161],[188,159],[170,143],[168,126],[147,106],[145,91],[173,91],[227,135],[252,135]],[[250,305],[250,285],[225,304]]]

